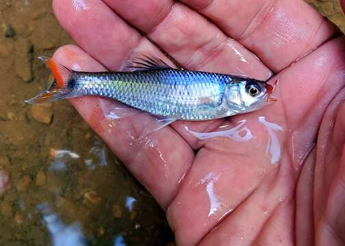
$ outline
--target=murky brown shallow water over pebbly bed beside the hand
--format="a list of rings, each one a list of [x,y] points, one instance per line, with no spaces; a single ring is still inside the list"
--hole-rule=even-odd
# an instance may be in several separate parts
[[[345,30],[337,1],[307,1]],[[49,1],[0,1],[0,245],[173,245],[164,212],[67,101],[23,102],[52,80],[36,57],[71,42]]]

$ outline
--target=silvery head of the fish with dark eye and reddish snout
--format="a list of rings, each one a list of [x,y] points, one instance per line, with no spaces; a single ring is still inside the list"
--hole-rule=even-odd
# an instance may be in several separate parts
[[[228,106],[235,106],[243,113],[261,109],[277,100],[271,96],[274,87],[264,81],[241,79],[227,86],[225,94]]]

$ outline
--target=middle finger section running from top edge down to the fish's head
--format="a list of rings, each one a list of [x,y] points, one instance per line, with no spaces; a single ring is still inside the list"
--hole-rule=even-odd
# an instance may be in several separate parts
[[[104,1],[190,70],[270,77],[255,55],[186,5],[170,0]]]

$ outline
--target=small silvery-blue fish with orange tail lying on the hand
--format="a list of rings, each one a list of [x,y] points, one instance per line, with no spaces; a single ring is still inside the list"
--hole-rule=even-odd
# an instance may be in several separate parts
[[[274,87],[234,74],[172,68],[152,55],[133,57],[120,72],[80,72],[39,57],[55,80],[29,104],[79,96],[112,98],[159,118],[214,120],[261,109],[276,100]]]

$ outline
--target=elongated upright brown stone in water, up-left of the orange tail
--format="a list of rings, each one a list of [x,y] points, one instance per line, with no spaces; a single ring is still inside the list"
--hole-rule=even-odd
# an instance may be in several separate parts
[[[14,68],[16,74],[25,82],[34,79],[32,72],[33,46],[28,40],[20,40],[16,43],[16,57]]]

